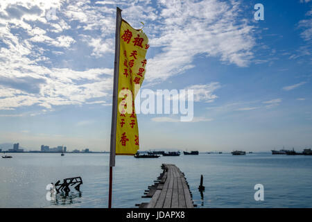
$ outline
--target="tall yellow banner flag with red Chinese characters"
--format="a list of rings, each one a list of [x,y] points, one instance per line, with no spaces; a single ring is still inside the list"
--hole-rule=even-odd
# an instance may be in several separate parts
[[[146,71],[148,37],[121,20],[116,155],[135,155],[139,150],[139,128],[135,96]]]

